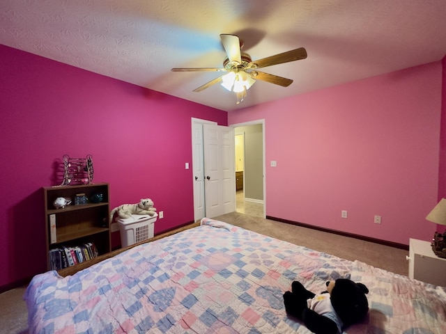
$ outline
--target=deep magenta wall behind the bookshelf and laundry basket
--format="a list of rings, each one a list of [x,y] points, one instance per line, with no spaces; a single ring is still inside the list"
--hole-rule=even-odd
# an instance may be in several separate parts
[[[0,74],[0,287],[46,269],[41,188],[63,154],[92,154],[111,207],[152,198],[155,234],[193,221],[190,119],[226,112],[2,45]]]

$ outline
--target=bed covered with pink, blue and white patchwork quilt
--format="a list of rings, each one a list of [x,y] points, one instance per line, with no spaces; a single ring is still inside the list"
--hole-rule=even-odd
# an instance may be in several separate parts
[[[370,290],[369,315],[346,333],[446,333],[444,287],[210,218],[72,276],[39,274],[24,299],[29,333],[310,333],[282,294],[337,278]]]

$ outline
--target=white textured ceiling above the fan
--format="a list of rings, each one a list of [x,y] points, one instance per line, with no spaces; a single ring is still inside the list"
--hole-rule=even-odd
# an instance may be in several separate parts
[[[0,0],[0,44],[233,111],[348,81],[440,61],[445,0]],[[192,90],[220,67],[220,33],[244,40],[253,60],[298,47],[301,61],[264,67],[293,79],[257,81],[245,101],[220,85]]]

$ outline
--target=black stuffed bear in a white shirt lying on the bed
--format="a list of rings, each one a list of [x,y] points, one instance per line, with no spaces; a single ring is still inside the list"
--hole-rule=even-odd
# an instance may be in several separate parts
[[[314,294],[295,281],[284,293],[285,310],[316,334],[342,333],[344,328],[362,321],[369,311],[362,283],[338,278],[326,283],[327,291]]]

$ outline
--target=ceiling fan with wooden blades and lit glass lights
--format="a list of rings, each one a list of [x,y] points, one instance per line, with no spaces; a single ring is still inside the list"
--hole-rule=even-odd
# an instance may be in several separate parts
[[[223,61],[223,67],[189,67],[189,68],[172,68],[172,72],[194,72],[194,71],[215,71],[228,72],[208,83],[195,88],[194,92],[201,92],[206,88],[218,83],[229,91],[237,94],[237,104],[243,101],[246,91],[254,84],[256,80],[267,81],[282,87],[288,87],[293,80],[279,77],[274,74],[260,72],[257,69],[271,65],[288,63],[290,61],[299,61],[307,58],[307,51],[303,47],[275,54],[257,61],[252,61],[249,54],[242,51],[243,42],[237,35],[222,33],[220,35],[224,51],[227,57]]]

